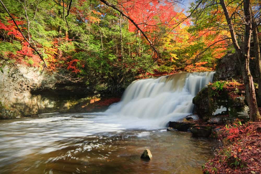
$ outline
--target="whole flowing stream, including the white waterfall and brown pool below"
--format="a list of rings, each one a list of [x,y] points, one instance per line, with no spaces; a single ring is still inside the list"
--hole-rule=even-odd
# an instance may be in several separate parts
[[[193,97],[213,74],[135,81],[103,113],[1,120],[0,173],[202,173],[217,141],[165,126],[193,113]],[[140,159],[145,148],[150,161]]]

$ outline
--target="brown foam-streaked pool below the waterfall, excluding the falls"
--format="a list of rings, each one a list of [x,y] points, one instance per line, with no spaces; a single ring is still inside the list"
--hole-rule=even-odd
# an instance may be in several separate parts
[[[0,173],[202,173],[218,144],[188,132],[100,123],[105,118],[79,113],[1,121]],[[140,159],[145,148],[150,161]]]

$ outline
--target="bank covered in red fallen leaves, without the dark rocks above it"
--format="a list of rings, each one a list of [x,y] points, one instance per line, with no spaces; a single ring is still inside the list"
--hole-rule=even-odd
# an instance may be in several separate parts
[[[218,137],[223,146],[216,156],[204,164],[208,173],[260,173],[261,172],[261,122],[241,124],[236,121],[225,125]]]

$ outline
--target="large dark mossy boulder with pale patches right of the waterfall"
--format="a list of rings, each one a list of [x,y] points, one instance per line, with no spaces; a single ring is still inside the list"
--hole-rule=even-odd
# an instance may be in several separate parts
[[[231,98],[226,90],[215,91],[211,86],[203,88],[194,98],[195,112],[211,124],[221,124],[222,118],[219,116],[227,115],[225,120],[234,120],[235,118],[243,121],[249,120],[249,108],[245,103],[245,97]]]

